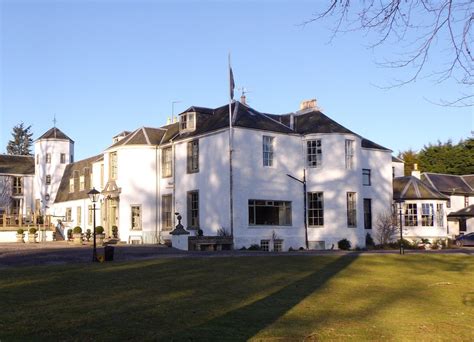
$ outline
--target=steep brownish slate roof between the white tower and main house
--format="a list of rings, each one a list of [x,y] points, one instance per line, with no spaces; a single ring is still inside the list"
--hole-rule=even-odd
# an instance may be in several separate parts
[[[88,198],[89,196],[87,195],[87,193],[91,189],[90,188],[88,189],[87,187],[82,191],[69,192],[69,179],[74,178],[75,171],[78,171],[79,177],[84,176],[85,168],[89,168],[89,172],[90,174],[92,174],[92,163],[100,160],[101,157],[102,155],[97,155],[97,156],[79,160],[75,163],[66,165],[54,202],[59,203],[59,202],[74,201],[78,199]],[[74,184],[74,186],[76,187],[75,190],[77,190],[78,186],[76,184]]]

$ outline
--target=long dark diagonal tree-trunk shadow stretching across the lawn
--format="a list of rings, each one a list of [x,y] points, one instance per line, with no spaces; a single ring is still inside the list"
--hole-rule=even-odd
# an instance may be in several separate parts
[[[190,327],[185,331],[177,331],[164,336],[164,339],[199,340],[200,336],[215,336],[216,340],[248,340],[328,283],[329,280],[349,267],[357,257],[358,255],[355,253],[339,257],[310,275],[260,300]],[[245,284],[242,286],[244,287]]]

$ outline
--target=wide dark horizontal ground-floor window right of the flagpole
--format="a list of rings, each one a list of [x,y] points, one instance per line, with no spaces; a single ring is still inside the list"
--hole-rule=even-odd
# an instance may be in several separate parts
[[[249,225],[291,226],[291,202],[249,200]]]

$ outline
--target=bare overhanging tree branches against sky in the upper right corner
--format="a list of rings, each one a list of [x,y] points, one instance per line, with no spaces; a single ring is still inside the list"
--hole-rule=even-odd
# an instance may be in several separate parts
[[[454,79],[460,96],[439,104],[472,106],[474,95],[473,55],[471,50],[474,22],[472,0],[331,0],[320,13],[304,24],[335,17],[331,40],[340,32],[362,30],[375,33],[370,47],[390,44],[397,57],[381,63],[391,68],[413,67],[407,79],[395,80],[389,87],[414,82],[428,76],[437,82]],[[443,45],[447,44],[447,45]],[[442,55],[445,63],[426,71],[430,56]],[[464,90],[467,89],[467,90]]]

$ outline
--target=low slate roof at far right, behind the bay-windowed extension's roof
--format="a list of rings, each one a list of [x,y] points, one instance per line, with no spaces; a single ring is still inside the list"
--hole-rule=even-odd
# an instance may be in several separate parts
[[[471,176],[464,177],[468,177],[468,181],[471,180]],[[474,195],[474,189],[463,176],[424,172],[421,174],[421,179],[446,195]]]

